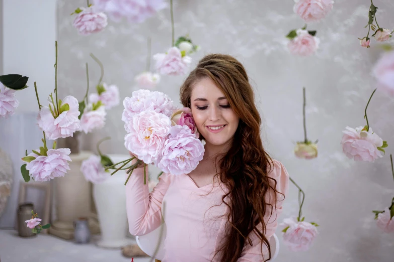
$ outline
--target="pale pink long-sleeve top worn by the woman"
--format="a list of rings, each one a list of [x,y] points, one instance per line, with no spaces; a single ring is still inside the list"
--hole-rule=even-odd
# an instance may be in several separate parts
[[[276,190],[286,195],[289,175],[282,163],[273,160],[268,176],[276,180]],[[274,186],[273,181],[270,181]],[[165,202],[163,218],[167,226],[167,235],[164,243],[165,257],[162,262],[210,261],[225,235],[228,207],[221,200],[225,192],[227,189],[221,182],[197,187],[187,174],[164,173],[149,193],[148,183],[143,184],[143,168],[135,169],[126,184],[126,209],[130,233],[140,236],[159,227],[162,221],[162,203]],[[274,204],[273,194],[270,192],[265,196],[266,203]],[[278,193],[276,195],[276,208],[273,205],[271,215],[270,206],[267,205],[268,211],[264,219],[267,239],[274,234],[278,225],[277,218],[282,212],[284,197]],[[250,237],[253,246],[248,241],[245,242],[238,262],[263,261],[261,240],[253,231]],[[268,251],[264,248],[263,244],[264,258],[267,259]],[[218,261],[219,257],[220,252],[213,261]]]

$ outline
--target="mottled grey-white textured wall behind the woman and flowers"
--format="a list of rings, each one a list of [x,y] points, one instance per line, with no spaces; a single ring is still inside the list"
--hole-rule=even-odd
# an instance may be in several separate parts
[[[375,163],[356,163],[342,153],[340,141],[346,125],[364,125],[363,110],[374,88],[370,69],[379,56],[375,47],[363,49],[357,37],[366,33],[370,2],[337,0],[326,20],[310,24],[322,40],[316,56],[299,58],[288,53],[284,36],[303,21],[292,12],[293,1],[174,1],[176,37],[190,34],[202,46],[196,62],[208,53],[230,54],[246,67],[264,117],[265,147],[284,163],[306,192],[306,220],[321,226],[307,252],[293,253],[282,245],[277,261],[392,261],[394,237],[376,228],[371,210],[382,210],[394,194],[389,153],[394,153],[394,100],[376,92],[368,109],[373,130],[389,147]],[[379,25],[394,28],[394,3],[375,0]],[[82,37],[72,27],[69,14],[83,0],[58,2],[59,87],[62,94],[78,99],[86,88],[85,62],[91,84],[100,70],[89,57],[93,52],[105,66],[104,81],[117,84],[122,97],[134,90],[133,77],[144,70],[146,38],[152,37],[152,53],[171,44],[169,9],[140,25],[110,22],[105,32]],[[372,40],[373,46],[376,42]],[[159,90],[179,101],[185,76],[163,77]],[[303,139],[302,87],[306,87],[307,127],[310,140],[319,139],[319,158],[301,161],[294,157],[293,143]],[[63,96],[63,95],[61,95]],[[179,102],[178,102],[179,103]],[[108,114],[107,125],[85,137],[84,147],[94,149],[107,135],[108,153],[125,153],[122,105]],[[282,219],[296,215],[297,190],[290,187]],[[277,231],[280,234],[280,230]]]

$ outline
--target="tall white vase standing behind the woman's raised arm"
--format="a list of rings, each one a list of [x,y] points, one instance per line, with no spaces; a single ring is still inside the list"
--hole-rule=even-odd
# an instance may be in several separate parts
[[[113,163],[130,158],[129,155],[108,155]],[[113,172],[112,170],[111,172]],[[126,238],[126,170],[119,170],[102,183],[93,185],[93,197],[101,227],[98,246],[120,248],[130,243]]]

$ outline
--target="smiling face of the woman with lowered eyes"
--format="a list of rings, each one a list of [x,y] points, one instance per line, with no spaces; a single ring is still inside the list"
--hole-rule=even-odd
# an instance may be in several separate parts
[[[232,139],[240,118],[209,77],[194,84],[190,101],[198,132],[207,143],[220,146]]]

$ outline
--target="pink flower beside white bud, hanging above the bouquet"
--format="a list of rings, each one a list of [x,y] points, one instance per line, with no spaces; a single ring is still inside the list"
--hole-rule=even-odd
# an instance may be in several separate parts
[[[156,70],[162,75],[184,75],[191,63],[190,56],[182,57],[181,51],[177,47],[172,47],[166,54],[155,54]]]

